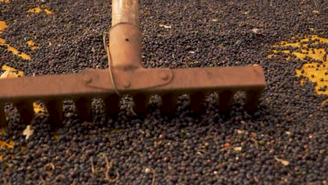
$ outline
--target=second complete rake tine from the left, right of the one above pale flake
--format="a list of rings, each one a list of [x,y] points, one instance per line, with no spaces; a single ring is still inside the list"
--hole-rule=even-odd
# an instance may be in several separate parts
[[[62,100],[50,100],[46,102],[46,109],[50,117],[50,121],[55,125],[62,125]]]

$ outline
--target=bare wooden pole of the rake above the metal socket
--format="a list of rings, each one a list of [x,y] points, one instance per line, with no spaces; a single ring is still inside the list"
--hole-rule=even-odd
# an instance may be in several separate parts
[[[130,22],[139,26],[138,0],[113,0],[111,11],[111,25],[120,22]]]

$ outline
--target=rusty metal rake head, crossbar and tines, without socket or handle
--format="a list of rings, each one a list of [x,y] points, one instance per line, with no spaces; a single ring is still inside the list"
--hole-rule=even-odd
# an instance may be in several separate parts
[[[204,96],[217,92],[219,109],[226,110],[233,94],[238,90],[247,93],[245,107],[255,109],[265,87],[261,67],[141,68],[112,71],[118,92],[134,97],[136,110],[140,113],[146,110],[151,95],[163,96],[163,111],[172,111],[176,100],[174,97],[182,93],[191,95],[191,109],[201,111]],[[6,90],[0,91],[0,103],[18,104],[25,121],[32,120],[32,102],[36,100],[46,102],[50,114],[56,114],[57,110],[57,121],[61,120],[60,101],[64,99],[76,102],[76,108],[83,120],[90,121],[90,100],[93,97],[102,97],[109,113],[118,111],[119,97],[107,69],[89,69],[80,74],[1,79],[0,85],[6,87]]]

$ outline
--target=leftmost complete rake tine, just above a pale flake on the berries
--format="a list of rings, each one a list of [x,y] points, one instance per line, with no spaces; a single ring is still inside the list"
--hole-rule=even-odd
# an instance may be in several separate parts
[[[24,123],[30,124],[34,118],[34,107],[33,102],[22,101],[15,103],[18,112]]]

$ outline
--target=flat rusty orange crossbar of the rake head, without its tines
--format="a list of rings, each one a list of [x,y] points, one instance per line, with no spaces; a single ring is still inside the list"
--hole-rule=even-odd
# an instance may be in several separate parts
[[[113,69],[113,73],[121,95],[258,91],[263,90],[265,85],[261,67],[136,69],[132,73]],[[168,78],[163,78],[163,74],[168,74]],[[0,91],[0,102],[48,102],[53,98],[74,99],[78,96],[101,97],[115,94],[107,69],[89,69],[80,74],[0,79],[0,85],[6,87],[6,90]]]

